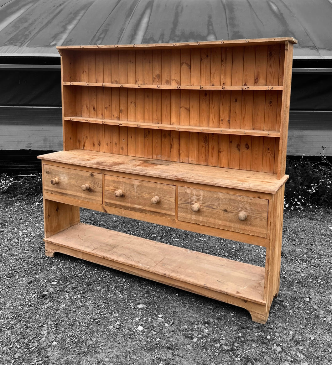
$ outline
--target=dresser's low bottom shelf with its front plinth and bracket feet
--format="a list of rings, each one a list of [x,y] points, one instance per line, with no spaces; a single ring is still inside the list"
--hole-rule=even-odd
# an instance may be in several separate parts
[[[269,314],[265,268],[78,223],[45,238],[46,255],[61,252],[246,308],[256,322]],[[269,306],[269,305],[268,305]]]

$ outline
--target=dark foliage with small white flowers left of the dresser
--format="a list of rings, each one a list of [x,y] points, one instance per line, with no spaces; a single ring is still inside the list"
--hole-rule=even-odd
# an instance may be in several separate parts
[[[7,174],[0,176],[0,194],[16,199],[42,200],[42,174],[13,177]]]

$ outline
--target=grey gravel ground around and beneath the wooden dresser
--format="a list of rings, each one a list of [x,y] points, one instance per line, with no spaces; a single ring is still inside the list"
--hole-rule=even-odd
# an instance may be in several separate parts
[[[259,246],[81,211],[81,220],[264,265]],[[287,212],[266,324],[235,306],[44,255],[43,207],[0,196],[0,364],[331,364],[332,214]]]

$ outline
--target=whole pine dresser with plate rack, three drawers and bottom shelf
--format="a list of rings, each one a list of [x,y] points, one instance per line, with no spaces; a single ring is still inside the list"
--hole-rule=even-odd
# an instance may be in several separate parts
[[[62,46],[46,255],[246,308],[279,291],[293,38]],[[80,223],[80,207],[266,247],[265,268]]]

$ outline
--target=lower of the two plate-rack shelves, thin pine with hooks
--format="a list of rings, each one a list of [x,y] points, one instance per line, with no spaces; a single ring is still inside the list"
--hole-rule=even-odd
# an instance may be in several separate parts
[[[235,135],[249,135],[249,136],[262,136],[262,137],[280,137],[280,132],[278,131],[184,126],[181,124],[163,124],[163,123],[146,123],[146,122],[140,123],[140,122],[129,122],[128,120],[113,120],[113,119],[86,118],[86,117],[83,118],[79,116],[65,116],[64,120],[96,123],[96,124],[108,124],[111,126],[151,128],[151,129],[170,130],[170,131],[235,134]]]

